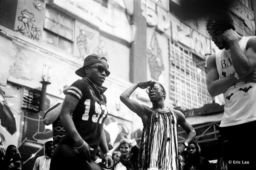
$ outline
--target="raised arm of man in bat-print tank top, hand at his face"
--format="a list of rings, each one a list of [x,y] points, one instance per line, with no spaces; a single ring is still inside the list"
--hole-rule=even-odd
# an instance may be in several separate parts
[[[237,33],[230,29],[224,33],[224,40],[229,43],[232,64],[238,76],[243,79],[256,68],[256,37],[250,38],[246,44],[245,54],[242,52]]]

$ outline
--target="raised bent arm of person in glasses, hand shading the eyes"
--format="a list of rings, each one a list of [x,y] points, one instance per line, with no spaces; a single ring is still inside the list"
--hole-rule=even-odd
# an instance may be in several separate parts
[[[152,81],[147,81],[147,82],[137,82],[133,84],[130,88],[125,90],[121,95],[120,95],[120,100],[133,112],[135,112],[140,118],[142,119],[142,122],[145,123],[147,122],[147,117],[145,116],[146,111],[149,111],[150,108],[146,105],[139,104],[135,100],[130,99],[130,96],[136,88],[147,88],[149,86],[153,86],[155,82]]]

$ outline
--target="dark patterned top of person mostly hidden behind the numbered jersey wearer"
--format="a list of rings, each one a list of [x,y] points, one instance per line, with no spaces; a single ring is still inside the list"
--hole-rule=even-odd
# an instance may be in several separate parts
[[[48,112],[50,112],[51,110],[53,110],[54,108],[56,108],[59,105],[60,105],[60,103],[57,103],[54,106],[52,106],[51,108],[49,108],[47,110],[47,112],[45,113],[44,118],[45,118],[46,114],[48,114]],[[52,123],[53,145],[55,146],[56,144],[58,144],[58,142],[60,141],[60,138],[65,136],[65,134],[66,134],[66,130],[64,130],[64,128],[60,122],[60,116],[58,116],[58,118]]]

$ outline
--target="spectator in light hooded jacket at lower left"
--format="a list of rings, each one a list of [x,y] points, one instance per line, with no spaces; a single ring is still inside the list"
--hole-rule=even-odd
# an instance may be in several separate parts
[[[49,170],[53,154],[53,141],[50,140],[44,144],[44,155],[36,158],[33,170]]]

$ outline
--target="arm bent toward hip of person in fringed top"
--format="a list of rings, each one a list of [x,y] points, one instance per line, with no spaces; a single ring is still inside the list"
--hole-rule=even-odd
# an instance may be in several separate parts
[[[196,137],[196,131],[194,128],[186,121],[185,116],[182,112],[174,110],[177,117],[178,124],[188,133],[184,142],[191,142]],[[185,149],[183,145],[180,145],[178,150],[180,153]]]

